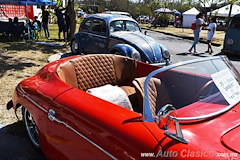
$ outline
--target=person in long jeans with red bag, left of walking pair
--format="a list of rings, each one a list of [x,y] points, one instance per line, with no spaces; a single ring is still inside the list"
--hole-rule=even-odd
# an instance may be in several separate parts
[[[196,50],[196,45],[199,41],[199,36],[200,36],[200,32],[202,30],[202,27],[203,26],[206,26],[205,23],[204,23],[204,20],[203,20],[203,13],[199,13],[197,16],[196,16],[196,29],[193,31],[193,34],[194,34],[194,42],[191,46],[191,48],[188,50],[189,53],[193,53],[192,50],[194,50],[194,53],[197,53],[197,50]]]

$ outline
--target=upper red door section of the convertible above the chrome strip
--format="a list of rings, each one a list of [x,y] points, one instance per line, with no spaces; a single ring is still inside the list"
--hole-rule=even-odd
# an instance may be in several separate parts
[[[78,104],[75,103],[76,101]],[[159,148],[156,146],[156,139],[141,123],[140,114],[90,94],[82,94],[78,89],[61,94],[52,107],[60,113],[56,115],[57,117],[82,131],[82,134],[119,159],[125,159],[126,156],[140,158],[140,150],[153,152],[155,148]],[[69,119],[69,116],[72,119]]]

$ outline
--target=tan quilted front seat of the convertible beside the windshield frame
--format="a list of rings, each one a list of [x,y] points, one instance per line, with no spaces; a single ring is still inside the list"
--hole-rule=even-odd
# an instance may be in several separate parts
[[[144,97],[144,82],[146,77],[135,78],[133,84],[136,88],[138,103],[143,108]],[[148,83],[148,94],[152,114],[155,115],[158,110],[165,104],[171,103],[167,89],[161,80],[158,78],[151,78]]]

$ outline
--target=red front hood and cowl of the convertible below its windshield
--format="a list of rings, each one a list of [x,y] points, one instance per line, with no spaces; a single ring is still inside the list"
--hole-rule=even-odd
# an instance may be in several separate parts
[[[192,110],[194,107],[201,107],[201,104],[191,105],[189,107],[179,109],[177,110],[177,115],[179,117],[186,117],[186,114],[184,113]],[[209,110],[206,108],[205,111],[206,113],[209,113]],[[239,134],[237,134],[239,127],[232,127],[239,126],[239,116],[240,105],[237,105],[227,113],[212,119],[181,123],[183,134],[188,140],[189,144],[176,142],[171,138],[162,136],[159,134],[159,132],[154,133],[154,131],[152,131],[152,133],[157,137],[160,145],[163,148],[163,152],[161,152],[161,154],[171,159],[238,159],[238,154],[235,154],[235,156],[232,157],[229,155],[234,152],[239,152],[237,150],[237,148],[239,148],[238,143],[233,142],[233,140],[239,142],[240,137]],[[209,129],[211,129],[211,132],[209,132]],[[169,130],[174,132],[174,126],[171,125]],[[229,130],[232,130],[232,132],[230,131],[228,133]],[[224,140],[223,137],[225,136],[226,139]],[[214,146],[212,146],[212,144],[214,144]],[[180,151],[178,152],[177,156],[174,154],[176,151]]]

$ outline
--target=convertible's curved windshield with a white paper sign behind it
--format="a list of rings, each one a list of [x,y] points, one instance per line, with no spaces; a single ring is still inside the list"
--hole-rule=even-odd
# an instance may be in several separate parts
[[[240,76],[226,57],[176,65],[157,73],[160,106],[172,104],[178,117],[212,114],[240,100]]]

